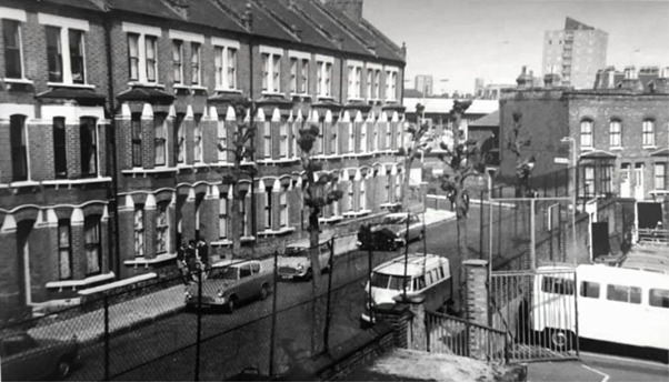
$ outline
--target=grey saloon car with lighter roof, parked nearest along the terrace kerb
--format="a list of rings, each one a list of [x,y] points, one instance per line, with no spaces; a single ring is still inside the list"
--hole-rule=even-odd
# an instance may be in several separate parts
[[[273,273],[264,270],[257,260],[222,260],[211,265],[202,280],[201,301],[198,283],[190,284],[186,292],[186,306],[223,308],[231,313],[253,299],[264,300],[273,286]]]

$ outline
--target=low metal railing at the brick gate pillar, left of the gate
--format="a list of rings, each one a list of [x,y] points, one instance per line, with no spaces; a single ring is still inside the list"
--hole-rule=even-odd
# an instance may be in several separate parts
[[[438,312],[426,312],[428,351],[506,363],[506,332]]]

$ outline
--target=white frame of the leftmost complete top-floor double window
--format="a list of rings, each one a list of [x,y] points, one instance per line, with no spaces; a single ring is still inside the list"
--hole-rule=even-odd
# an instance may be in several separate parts
[[[2,17],[4,18],[4,16]],[[86,66],[86,33],[90,30],[86,20],[64,18],[61,16],[37,13],[38,22],[43,26],[60,28],[60,49],[62,59],[62,82],[48,82],[48,86],[67,84],[69,87],[93,88],[88,84],[88,70]],[[72,63],[70,61],[70,29],[81,32],[81,51],[83,56],[83,83],[74,83],[72,79]],[[22,54],[21,54],[22,58]],[[23,74],[24,76],[24,74]]]

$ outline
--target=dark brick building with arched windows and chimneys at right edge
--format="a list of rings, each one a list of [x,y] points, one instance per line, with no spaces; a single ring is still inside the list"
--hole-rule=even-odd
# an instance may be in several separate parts
[[[522,113],[526,148],[537,162],[532,178],[559,170],[555,158],[572,163],[576,154],[580,199],[595,197],[655,200],[669,189],[669,68],[633,67],[617,72],[600,70],[592,89],[555,87],[557,76],[546,77],[543,88],[518,88],[500,100],[501,174],[512,177],[516,157],[507,148],[515,111]],[[562,138],[569,142],[560,142]],[[576,150],[576,153],[572,151]],[[562,165],[560,165],[563,168]]]

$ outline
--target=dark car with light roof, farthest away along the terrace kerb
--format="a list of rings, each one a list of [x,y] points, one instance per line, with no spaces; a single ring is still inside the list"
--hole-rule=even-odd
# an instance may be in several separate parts
[[[409,219],[408,234],[407,219]],[[358,235],[358,245],[361,249],[396,250],[400,245],[406,245],[407,241],[422,239],[423,234],[422,220],[416,213],[389,213],[379,224],[370,227],[369,234]]]

